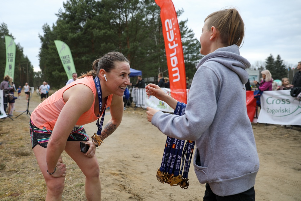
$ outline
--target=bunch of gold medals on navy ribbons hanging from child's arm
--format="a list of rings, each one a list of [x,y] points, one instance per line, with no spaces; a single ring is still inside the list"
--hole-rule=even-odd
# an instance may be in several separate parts
[[[184,114],[186,104],[178,102],[175,115]],[[188,171],[194,149],[194,141],[178,140],[167,137],[160,169],[157,170],[157,180],[162,184],[188,188]],[[185,146],[184,146],[185,144]],[[182,163],[182,165],[181,165]],[[183,169],[184,168],[184,169]]]

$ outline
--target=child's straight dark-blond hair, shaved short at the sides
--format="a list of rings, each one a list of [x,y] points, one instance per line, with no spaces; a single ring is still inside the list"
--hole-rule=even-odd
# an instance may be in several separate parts
[[[237,45],[244,41],[244,21],[235,8],[224,9],[209,14],[208,29],[215,27],[222,43],[226,46]]]

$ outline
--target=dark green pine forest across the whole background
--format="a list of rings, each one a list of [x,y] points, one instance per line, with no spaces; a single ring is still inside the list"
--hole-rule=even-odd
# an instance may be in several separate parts
[[[78,74],[92,69],[95,59],[109,51],[122,52],[129,58],[131,68],[141,70],[144,79],[153,78],[155,83],[159,72],[168,77],[165,55],[160,7],[152,0],[67,0],[63,4],[64,11],[59,10],[57,21],[44,24],[39,34],[41,48],[39,67],[34,72],[33,66],[23,54],[21,44],[16,44],[16,61],[14,83],[23,86],[40,86],[48,81],[51,89],[59,89],[67,82],[57,53],[54,40],[65,42],[72,52]],[[178,10],[180,16],[184,10]],[[202,58],[200,42],[193,31],[187,27],[187,20],[179,21],[185,61],[186,76],[193,77],[195,65]],[[5,35],[14,38],[5,23],[0,26],[0,72],[5,71]],[[252,69],[262,71],[268,69],[272,77],[293,78],[292,64],[285,64],[280,55],[271,54],[265,62],[257,61]],[[4,74],[0,76],[4,76]],[[149,81],[146,79],[146,82]]]

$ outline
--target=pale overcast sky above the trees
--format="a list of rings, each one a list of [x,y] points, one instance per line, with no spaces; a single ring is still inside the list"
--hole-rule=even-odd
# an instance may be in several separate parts
[[[47,23],[52,27],[56,22],[59,9],[63,9],[66,0],[10,0],[2,1],[0,23],[8,26],[9,32],[20,43],[33,64],[39,71],[39,34]],[[240,55],[247,58],[251,65],[264,62],[272,54],[280,55],[284,64],[296,67],[301,61],[301,1],[300,0],[173,0],[175,10],[184,9],[180,20],[188,19],[197,39],[207,15],[226,6],[235,6],[245,23],[245,40],[240,48]]]

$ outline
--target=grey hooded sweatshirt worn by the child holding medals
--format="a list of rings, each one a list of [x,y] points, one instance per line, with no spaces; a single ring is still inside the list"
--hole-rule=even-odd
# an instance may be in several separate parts
[[[185,114],[159,111],[152,118],[165,135],[195,141],[197,178],[219,196],[249,190],[259,170],[246,107],[245,69],[249,67],[236,45],[217,49],[196,66]]]

